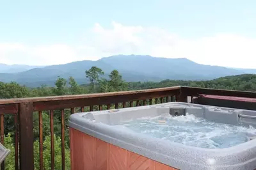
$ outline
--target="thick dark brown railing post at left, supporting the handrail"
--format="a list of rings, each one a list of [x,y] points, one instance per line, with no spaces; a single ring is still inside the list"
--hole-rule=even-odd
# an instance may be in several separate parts
[[[20,169],[34,169],[33,102],[19,104]]]

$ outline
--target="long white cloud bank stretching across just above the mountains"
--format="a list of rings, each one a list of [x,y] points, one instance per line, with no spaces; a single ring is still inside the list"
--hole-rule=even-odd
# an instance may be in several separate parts
[[[232,34],[186,39],[157,27],[95,24],[80,45],[1,43],[0,63],[52,65],[115,54],[188,58],[207,65],[256,68],[256,39]]]

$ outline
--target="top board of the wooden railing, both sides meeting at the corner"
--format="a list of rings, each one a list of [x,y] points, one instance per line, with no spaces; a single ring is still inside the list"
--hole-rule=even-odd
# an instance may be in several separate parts
[[[172,91],[174,89],[181,89],[181,91],[183,93],[186,93],[186,95],[188,96],[205,94],[205,95],[227,95],[227,96],[234,96],[234,97],[249,97],[249,98],[256,97],[255,91],[237,91],[237,90],[228,90],[228,89],[210,89],[210,88],[194,88],[194,87],[188,87],[188,86],[174,86],[170,88],[141,89],[141,90],[118,91],[118,92],[109,92],[109,93],[92,93],[92,94],[84,94],[84,95],[63,95],[63,96],[51,96],[51,97],[0,99],[0,105],[6,104],[6,107],[10,108],[11,105],[7,105],[7,104],[19,104],[23,102],[48,102],[48,101],[57,101],[57,100],[76,100],[76,99],[83,99],[83,98],[100,98],[100,97],[113,97],[113,96],[119,97],[124,95],[138,95],[138,94],[146,95],[148,93],[159,93],[161,91],[162,92]]]

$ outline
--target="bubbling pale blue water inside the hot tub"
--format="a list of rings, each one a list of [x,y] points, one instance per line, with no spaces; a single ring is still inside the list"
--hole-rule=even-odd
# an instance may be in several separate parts
[[[228,148],[245,143],[256,136],[256,129],[215,123],[193,114],[124,121],[123,126],[141,134],[200,148]]]

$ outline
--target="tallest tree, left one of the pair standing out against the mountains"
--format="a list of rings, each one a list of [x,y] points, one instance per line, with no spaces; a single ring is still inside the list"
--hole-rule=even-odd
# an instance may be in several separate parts
[[[93,92],[95,93],[95,82],[99,81],[99,76],[104,75],[104,72],[97,66],[92,66],[90,70],[86,70],[86,78],[89,79]]]

